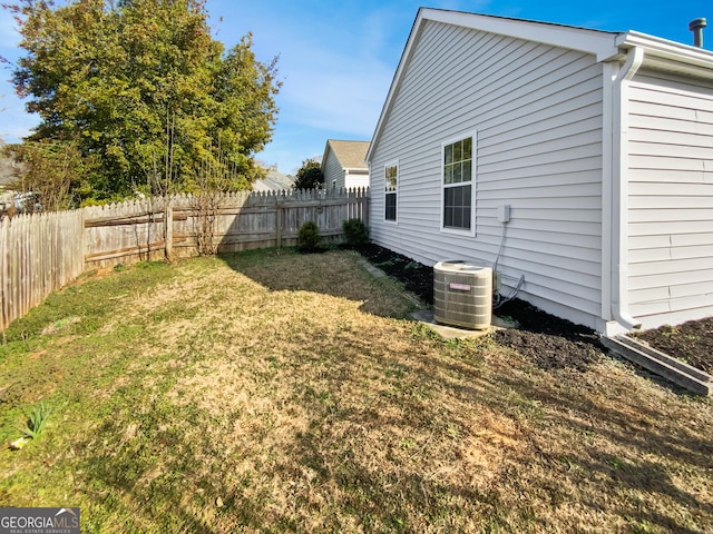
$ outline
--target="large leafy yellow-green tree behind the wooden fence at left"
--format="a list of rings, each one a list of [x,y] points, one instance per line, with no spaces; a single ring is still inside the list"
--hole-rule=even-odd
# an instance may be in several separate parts
[[[276,121],[276,58],[256,61],[251,34],[226,51],[211,36],[205,0],[3,7],[27,51],[17,91],[41,119],[30,139],[76,142],[95,158],[89,196],[194,190],[206,166],[229,168],[228,189],[262,177],[254,154]]]

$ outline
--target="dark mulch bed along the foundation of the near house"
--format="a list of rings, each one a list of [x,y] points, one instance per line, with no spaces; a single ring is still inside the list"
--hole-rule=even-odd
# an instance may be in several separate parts
[[[378,245],[368,245],[359,251],[372,265],[401,281],[423,303],[433,304],[431,267]],[[500,317],[510,317],[519,325],[518,328],[495,332],[495,340],[530,358],[544,369],[585,370],[606,352],[594,330],[546,314],[524,300],[514,299],[495,313]],[[690,365],[713,372],[713,317],[647,330],[636,337]]]

